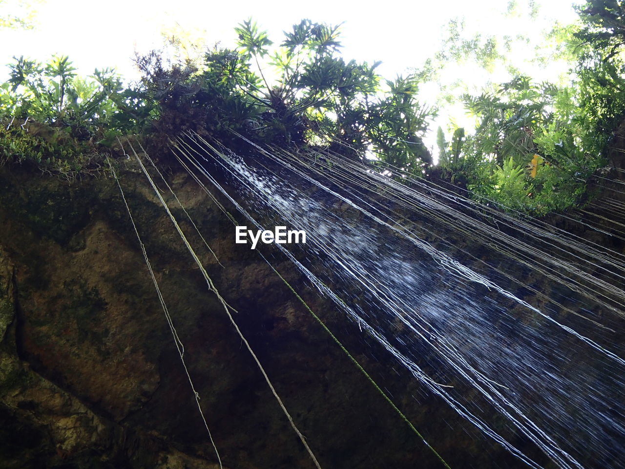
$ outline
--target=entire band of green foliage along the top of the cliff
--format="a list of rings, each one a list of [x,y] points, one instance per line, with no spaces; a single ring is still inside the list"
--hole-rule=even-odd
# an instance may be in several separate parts
[[[511,2],[508,14],[518,9]],[[111,69],[81,78],[62,56],[47,64],[16,58],[0,85],[0,161],[31,162],[71,178],[96,170],[120,134],[150,134],[153,148],[162,148],[193,130],[236,149],[238,133],[261,144],[329,146],[354,158],[372,153],[372,167],[389,163],[439,176],[484,203],[561,211],[584,200],[586,181],[606,165],[614,134],[625,132],[624,6],[591,0],[578,11],[581,26],[557,26],[548,38],[557,53],[576,58],[574,83],[536,83],[517,73],[479,95],[464,94],[476,129],[453,125],[449,135],[437,129],[437,169],[423,140],[437,109],[417,95],[441,67],[428,61],[407,76],[382,79],[379,63],[341,57],[340,25],[308,19],[276,44],[248,19],[235,28],[236,48],[200,57],[191,56],[196,45],[171,36],[170,46],[184,51],[170,61],[158,52],[138,57],[143,79],[134,87]],[[438,63],[472,60],[486,69],[506,63],[494,36],[463,33],[462,23],[452,21]],[[524,39],[504,38],[503,46]]]

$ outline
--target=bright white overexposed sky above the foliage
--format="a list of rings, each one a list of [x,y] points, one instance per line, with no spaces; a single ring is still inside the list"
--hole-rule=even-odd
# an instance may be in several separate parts
[[[9,4],[12,1],[9,0]],[[539,14],[529,17],[528,0],[517,0],[518,14],[508,14],[506,0],[447,0],[444,2],[410,1],[378,2],[375,7],[362,2],[315,0],[312,2],[249,0],[197,2],[194,0],[47,0],[37,6],[36,28],[28,31],[0,30],[0,64],[12,56],[27,56],[46,61],[53,54],[68,55],[79,73],[88,75],[94,68],[115,67],[127,79],[137,77],[134,51],[139,53],[159,48],[161,32],[178,24],[205,39],[234,46],[234,26],[249,17],[269,31],[274,43],[282,40],[282,31],[291,29],[302,18],[317,23],[342,24],[342,54],[346,59],[381,60],[382,76],[392,78],[418,68],[425,59],[441,48],[447,37],[447,23],[464,18],[467,36],[474,33],[503,36],[524,34],[539,38],[558,21],[567,24],[577,16],[572,0],[536,0]],[[577,2],[579,3],[579,1]],[[517,63],[532,58],[533,47],[516,50]],[[556,81],[566,73],[562,64],[537,69],[527,65],[532,76]],[[6,69],[0,79],[6,78]],[[461,79],[479,88],[489,79],[506,79],[503,69],[487,75],[471,64],[452,66],[448,81]],[[429,89],[422,90],[427,100]],[[431,93],[434,93],[433,89]],[[432,102],[434,99],[432,99]],[[446,111],[447,114],[451,110]],[[454,119],[462,119],[455,116]]]

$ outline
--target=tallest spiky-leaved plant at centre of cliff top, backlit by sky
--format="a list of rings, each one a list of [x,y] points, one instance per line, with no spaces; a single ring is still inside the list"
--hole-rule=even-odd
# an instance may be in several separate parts
[[[306,136],[310,139],[351,135],[354,126],[362,124],[364,113],[356,96],[368,96],[375,91],[377,76],[373,70],[377,64],[369,67],[355,61],[346,63],[337,57],[335,53],[341,46],[338,31],[337,26],[307,19],[294,25],[272,54],[271,64],[279,78],[271,86],[258,66],[258,59],[267,54],[266,46],[271,41],[249,21],[237,28],[240,51],[254,59],[262,78],[262,85],[249,86],[246,96],[264,108],[261,126],[274,130],[269,132],[272,138],[301,144]],[[325,118],[328,113],[336,114],[336,120]]]

